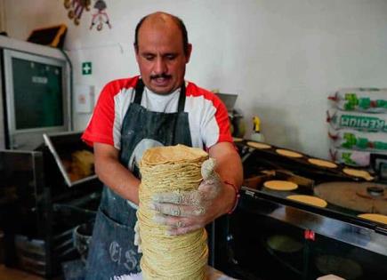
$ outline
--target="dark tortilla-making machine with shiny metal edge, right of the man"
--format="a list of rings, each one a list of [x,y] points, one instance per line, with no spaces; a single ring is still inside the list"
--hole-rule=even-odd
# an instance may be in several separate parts
[[[316,196],[316,190],[334,188],[335,184],[340,188],[371,183],[343,173],[340,164],[328,169],[309,164],[307,155],[278,156],[278,147],[254,149],[240,143],[238,148],[245,187],[237,211],[217,220],[215,268],[247,280],[314,280],[328,274],[345,279],[385,279],[387,225],[359,218],[359,209],[340,204],[340,200],[335,204],[329,200],[327,207],[321,208],[286,198]],[[296,181],[299,188],[271,190],[263,186],[266,180]],[[364,195],[364,189],[359,189]],[[360,196],[361,204],[365,204],[364,196]]]

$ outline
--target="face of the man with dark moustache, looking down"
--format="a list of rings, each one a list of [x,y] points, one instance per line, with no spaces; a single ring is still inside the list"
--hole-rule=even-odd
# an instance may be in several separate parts
[[[136,60],[142,80],[152,92],[168,94],[184,81],[189,52],[184,53],[181,30],[171,22],[144,21],[138,34]]]

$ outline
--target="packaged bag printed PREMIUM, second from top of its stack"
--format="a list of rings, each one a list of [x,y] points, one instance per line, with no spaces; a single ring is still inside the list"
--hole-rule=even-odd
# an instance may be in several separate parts
[[[387,114],[327,110],[327,122],[337,129],[354,129],[363,132],[387,132]]]

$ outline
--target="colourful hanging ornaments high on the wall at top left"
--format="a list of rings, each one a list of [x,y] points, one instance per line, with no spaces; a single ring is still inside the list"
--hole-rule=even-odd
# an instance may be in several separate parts
[[[78,26],[81,22],[84,12],[92,11],[92,20],[90,30],[95,27],[96,30],[101,31],[104,26],[111,28],[108,12],[108,6],[104,0],[64,0],[64,7],[68,10],[68,17],[74,21]]]

